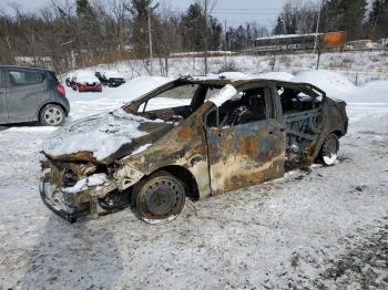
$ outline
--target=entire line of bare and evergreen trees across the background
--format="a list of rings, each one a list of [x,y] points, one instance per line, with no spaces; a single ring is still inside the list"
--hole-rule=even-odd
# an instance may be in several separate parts
[[[17,4],[12,12],[0,7],[0,63],[32,56],[39,64],[47,56],[64,72],[137,59],[147,68],[151,34],[154,56],[167,70],[171,53],[242,51],[270,34],[257,22],[225,29],[212,17],[216,0],[206,0],[207,9],[204,1],[193,1],[180,12],[165,2],[153,10],[153,0],[51,0],[37,12],[24,12]],[[367,0],[288,0],[272,34],[315,32],[319,11],[319,32],[347,31],[349,40],[388,38],[388,0],[374,0],[370,9]]]

